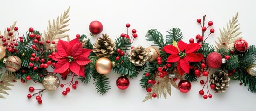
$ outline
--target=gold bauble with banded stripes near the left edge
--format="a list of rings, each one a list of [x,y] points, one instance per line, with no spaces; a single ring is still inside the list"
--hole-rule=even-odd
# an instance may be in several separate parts
[[[21,59],[17,56],[9,56],[4,63],[5,68],[10,72],[16,72],[21,68]]]

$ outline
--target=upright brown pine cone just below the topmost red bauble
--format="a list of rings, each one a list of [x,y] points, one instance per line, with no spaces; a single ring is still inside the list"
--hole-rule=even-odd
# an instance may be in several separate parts
[[[102,34],[93,44],[93,52],[97,57],[110,57],[114,53],[115,42],[107,34]]]

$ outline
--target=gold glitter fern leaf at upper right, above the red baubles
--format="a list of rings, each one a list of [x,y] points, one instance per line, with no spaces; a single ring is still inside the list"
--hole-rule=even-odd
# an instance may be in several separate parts
[[[221,31],[220,29],[220,37],[218,37],[218,41],[215,41],[216,43],[216,49],[232,49],[234,46],[234,43],[236,40],[241,39],[242,37],[237,37],[239,34],[242,33],[238,32],[238,30],[240,29],[239,24],[237,24],[238,22],[238,12],[236,13],[235,17],[233,16],[232,21],[229,20],[229,25],[227,23],[227,29],[225,29],[223,27],[223,31]]]

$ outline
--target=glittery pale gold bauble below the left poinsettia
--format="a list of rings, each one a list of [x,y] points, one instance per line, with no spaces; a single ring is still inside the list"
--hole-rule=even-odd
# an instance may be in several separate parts
[[[48,74],[43,78],[43,87],[48,91],[55,91],[60,86],[59,78],[54,74]]]

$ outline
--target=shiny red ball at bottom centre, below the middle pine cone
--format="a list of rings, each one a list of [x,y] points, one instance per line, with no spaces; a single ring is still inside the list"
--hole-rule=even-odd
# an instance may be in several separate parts
[[[118,77],[117,81],[116,81],[116,84],[118,86],[119,89],[127,89],[130,85],[130,81],[128,80],[127,77],[125,76],[121,76],[121,77]]]

